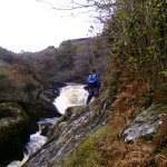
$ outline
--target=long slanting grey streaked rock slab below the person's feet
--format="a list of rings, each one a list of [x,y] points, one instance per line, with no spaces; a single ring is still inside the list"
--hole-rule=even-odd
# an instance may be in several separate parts
[[[106,122],[106,116],[91,111],[90,108],[73,107],[67,109],[49,131],[49,141],[23,165],[42,167],[47,164],[59,164],[76,148],[80,140]]]

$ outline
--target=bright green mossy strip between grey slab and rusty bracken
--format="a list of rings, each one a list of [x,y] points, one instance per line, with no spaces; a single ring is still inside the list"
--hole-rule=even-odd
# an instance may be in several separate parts
[[[101,166],[101,153],[97,151],[95,146],[98,145],[99,140],[105,138],[109,131],[108,125],[98,129],[77,147],[69,159],[61,161],[61,165],[66,167]]]

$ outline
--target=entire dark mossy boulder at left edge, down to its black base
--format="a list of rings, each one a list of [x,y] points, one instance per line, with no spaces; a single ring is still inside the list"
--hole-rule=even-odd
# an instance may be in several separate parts
[[[30,136],[29,124],[29,117],[18,104],[0,104],[0,166],[22,159]]]

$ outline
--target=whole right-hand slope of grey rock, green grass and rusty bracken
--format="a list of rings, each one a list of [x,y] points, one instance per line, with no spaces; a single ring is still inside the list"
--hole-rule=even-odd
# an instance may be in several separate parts
[[[153,104],[141,108],[138,91],[143,88],[131,89],[131,95],[125,97],[129,91],[126,90],[112,102],[105,90],[89,107],[69,108],[48,132],[48,143],[23,166],[165,164],[158,161],[160,154],[157,151],[166,146],[167,106]]]

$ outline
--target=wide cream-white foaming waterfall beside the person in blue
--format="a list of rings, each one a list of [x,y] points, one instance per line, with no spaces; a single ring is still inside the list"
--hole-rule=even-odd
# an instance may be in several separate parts
[[[87,97],[88,91],[84,89],[84,86],[67,86],[60,89],[60,96],[55,99],[53,104],[59,112],[65,114],[68,107],[85,106]]]

